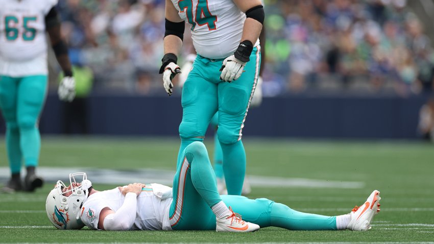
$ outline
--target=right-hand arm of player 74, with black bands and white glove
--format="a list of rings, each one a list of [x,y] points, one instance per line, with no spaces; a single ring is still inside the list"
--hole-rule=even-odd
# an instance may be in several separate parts
[[[244,1],[233,0],[235,5],[246,13],[246,20],[243,27],[243,35],[235,53],[223,61],[223,81],[232,82],[243,74],[244,66],[250,60],[253,45],[259,37],[264,19],[263,6],[260,0]]]

